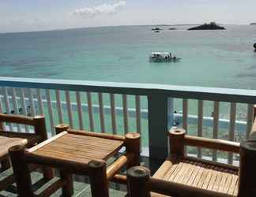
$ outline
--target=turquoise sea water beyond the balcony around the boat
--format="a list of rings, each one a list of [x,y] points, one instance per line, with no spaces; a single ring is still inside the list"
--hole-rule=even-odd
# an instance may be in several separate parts
[[[178,26],[154,33],[152,26],[123,26],[0,34],[0,76],[256,89],[256,25],[224,26],[226,31]],[[152,51],[183,59],[150,63]],[[120,98],[117,103],[121,106]],[[129,105],[134,106],[133,99]],[[225,116],[228,105],[221,105]],[[210,114],[212,105],[205,106]],[[190,105],[190,113],[196,109]]]

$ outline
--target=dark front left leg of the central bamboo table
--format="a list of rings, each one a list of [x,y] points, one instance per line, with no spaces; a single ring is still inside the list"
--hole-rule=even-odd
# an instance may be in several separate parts
[[[13,165],[13,175],[16,179],[17,191],[20,197],[33,197],[32,182],[25,162],[24,146],[14,146],[9,148],[9,156]]]

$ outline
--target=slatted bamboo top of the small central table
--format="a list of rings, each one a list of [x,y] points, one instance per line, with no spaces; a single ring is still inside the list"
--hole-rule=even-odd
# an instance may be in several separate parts
[[[121,140],[62,132],[40,143],[30,152],[44,158],[58,158],[66,162],[87,164],[97,159],[106,161],[119,151],[123,143]]]

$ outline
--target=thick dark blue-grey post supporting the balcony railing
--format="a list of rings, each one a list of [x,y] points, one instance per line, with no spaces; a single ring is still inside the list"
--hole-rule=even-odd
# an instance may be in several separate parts
[[[168,98],[162,94],[148,95],[149,163],[152,173],[168,156]]]

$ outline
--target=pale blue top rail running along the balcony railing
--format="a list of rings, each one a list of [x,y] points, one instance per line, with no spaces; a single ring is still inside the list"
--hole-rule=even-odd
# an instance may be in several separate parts
[[[89,80],[52,80],[1,77],[2,87],[29,87],[66,91],[92,91],[126,95],[164,95],[174,98],[256,103],[256,90],[219,87],[176,86],[168,84],[138,84]]]

